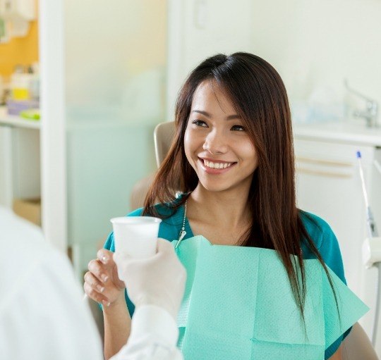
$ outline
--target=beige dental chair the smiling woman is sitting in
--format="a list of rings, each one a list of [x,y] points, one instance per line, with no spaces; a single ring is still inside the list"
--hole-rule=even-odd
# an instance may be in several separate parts
[[[155,128],[155,155],[158,167],[169,151],[174,131],[174,122],[160,123]],[[145,194],[147,194],[154,178],[155,175],[152,174],[135,184],[131,193],[131,209],[138,209],[143,206]],[[95,302],[93,303],[95,304]],[[98,307],[97,309],[99,310]],[[97,320],[99,333],[103,334],[103,323],[102,321],[99,322],[99,316],[97,316]],[[351,333],[342,344],[342,360],[378,360],[368,336],[359,323],[353,325]]]

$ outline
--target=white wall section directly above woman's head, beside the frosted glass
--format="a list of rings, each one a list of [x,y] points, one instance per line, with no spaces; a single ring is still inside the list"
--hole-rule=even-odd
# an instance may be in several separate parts
[[[208,56],[252,49],[253,0],[169,0],[167,119],[188,73]]]

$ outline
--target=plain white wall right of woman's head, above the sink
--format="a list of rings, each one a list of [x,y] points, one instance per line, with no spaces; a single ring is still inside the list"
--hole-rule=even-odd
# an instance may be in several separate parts
[[[279,70],[291,102],[329,88],[349,117],[365,104],[344,78],[381,104],[380,16],[380,0],[255,0],[252,49]]]

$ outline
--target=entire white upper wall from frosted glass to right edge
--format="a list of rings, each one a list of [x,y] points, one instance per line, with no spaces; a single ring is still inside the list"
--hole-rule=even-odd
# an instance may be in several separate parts
[[[380,0],[169,0],[167,117],[188,72],[217,52],[265,58],[292,103],[329,89],[348,115],[365,104],[346,92],[346,78],[380,104],[380,16]]]

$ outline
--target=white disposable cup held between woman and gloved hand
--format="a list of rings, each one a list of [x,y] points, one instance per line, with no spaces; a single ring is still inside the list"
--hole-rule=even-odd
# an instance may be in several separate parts
[[[111,218],[116,252],[126,252],[136,258],[156,254],[157,236],[162,219],[150,216]]]

